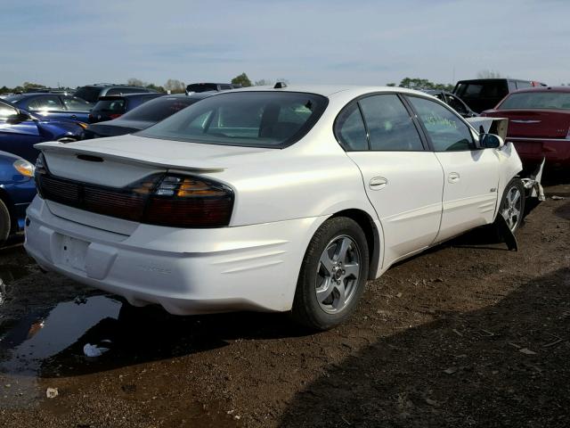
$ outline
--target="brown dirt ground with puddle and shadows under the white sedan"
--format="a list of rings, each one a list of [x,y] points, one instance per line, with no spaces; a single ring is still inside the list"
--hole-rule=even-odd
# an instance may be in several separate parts
[[[482,230],[440,245],[326,333],[133,309],[16,243],[0,252],[0,426],[566,427],[570,185],[545,190],[519,251]]]

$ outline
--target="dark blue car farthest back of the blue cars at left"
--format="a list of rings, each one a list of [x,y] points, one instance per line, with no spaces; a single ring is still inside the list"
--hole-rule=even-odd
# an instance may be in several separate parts
[[[4,96],[20,110],[29,111],[38,118],[69,119],[86,122],[94,104],[73,95],[32,93]]]

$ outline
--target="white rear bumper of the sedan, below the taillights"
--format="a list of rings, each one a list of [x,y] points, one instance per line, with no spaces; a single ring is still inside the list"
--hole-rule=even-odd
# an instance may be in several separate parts
[[[301,218],[217,229],[139,225],[121,235],[55,216],[39,197],[28,219],[24,246],[41,267],[135,306],[158,303],[180,315],[289,310],[306,245],[322,222]]]

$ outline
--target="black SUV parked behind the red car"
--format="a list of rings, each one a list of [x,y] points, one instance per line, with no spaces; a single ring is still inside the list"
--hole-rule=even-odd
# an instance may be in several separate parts
[[[493,109],[510,92],[533,86],[546,85],[518,78],[474,78],[457,82],[453,94],[459,96],[472,111],[480,113]]]

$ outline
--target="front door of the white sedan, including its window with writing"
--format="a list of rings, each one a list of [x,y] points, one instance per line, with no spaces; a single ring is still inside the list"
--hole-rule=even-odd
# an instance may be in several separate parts
[[[444,169],[444,210],[436,242],[493,222],[500,163],[495,149],[477,148],[468,124],[443,103],[407,99]]]

